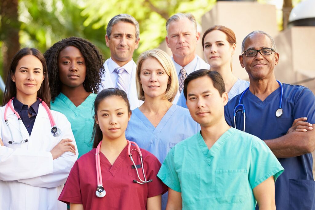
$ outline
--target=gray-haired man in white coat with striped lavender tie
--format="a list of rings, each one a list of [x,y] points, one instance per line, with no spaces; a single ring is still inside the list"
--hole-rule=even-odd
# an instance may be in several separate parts
[[[136,90],[136,64],[132,55],[139,45],[139,23],[129,14],[118,14],[106,28],[106,45],[111,57],[104,63],[105,74],[101,77],[100,90],[119,88],[128,95],[130,108],[141,104]]]

